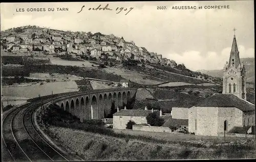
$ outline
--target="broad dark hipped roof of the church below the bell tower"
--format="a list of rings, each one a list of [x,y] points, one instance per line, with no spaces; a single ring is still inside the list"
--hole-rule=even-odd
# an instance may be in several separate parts
[[[198,107],[237,107],[243,112],[255,111],[255,105],[233,94],[213,94],[197,103]]]

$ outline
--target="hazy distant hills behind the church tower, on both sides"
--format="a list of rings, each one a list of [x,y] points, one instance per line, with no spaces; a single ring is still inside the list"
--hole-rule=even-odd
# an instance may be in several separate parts
[[[241,58],[241,63],[244,62],[245,64],[245,70],[246,70],[246,78],[247,82],[254,82],[254,58]],[[224,64],[223,64],[224,65]],[[198,72],[214,76],[214,77],[222,77],[223,76],[223,70],[198,70]]]

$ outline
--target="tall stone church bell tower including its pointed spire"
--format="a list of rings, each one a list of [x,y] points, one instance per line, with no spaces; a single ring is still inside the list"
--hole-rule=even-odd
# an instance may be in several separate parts
[[[233,31],[235,32],[236,29]],[[229,61],[223,67],[222,94],[233,94],[246,100],[245,67],[240,63],[236,34],[234,34]]]

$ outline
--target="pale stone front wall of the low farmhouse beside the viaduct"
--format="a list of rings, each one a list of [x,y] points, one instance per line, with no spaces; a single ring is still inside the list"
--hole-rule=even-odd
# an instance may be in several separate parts
[[[134,121],[136,124],[147,123],[146,117],[113,116],[113,128],[126,129],[126,124],[130,120]]]

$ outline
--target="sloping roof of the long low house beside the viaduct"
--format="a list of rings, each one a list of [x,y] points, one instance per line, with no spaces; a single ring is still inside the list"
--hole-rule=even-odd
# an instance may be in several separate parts
[[[154,110],[158,111],[158,110]],[[158,111],[159,112],[159,111]],[[114,116],[135,116],[135,117],[146,117],[148,114],[152,113],[152,110],[120,110],[119,112],[113,114]]]

